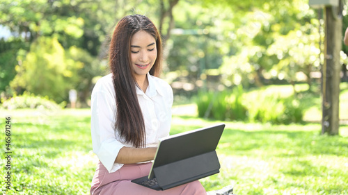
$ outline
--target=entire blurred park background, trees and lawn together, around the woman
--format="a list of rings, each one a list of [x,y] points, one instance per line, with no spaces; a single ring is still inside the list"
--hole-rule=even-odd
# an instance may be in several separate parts
[[[0,192],[89,194],[98,162],[90,93],[110,72],[113,28],[141,14],[164,40],[171,134],[226,124],[221,172],[200,180],[207,191],[235,183],[237,194],[348,194],[347,1],[342,10],[309,1],[329,0],[0,0],[0,151],[13,152]],[[342,26],[327,29],[329,16]],[[329,66],[333,42],[339,60]],[[338,92],[322,90],[333,78],[326,89]],[[322,117],[330,103],[339,120]]]

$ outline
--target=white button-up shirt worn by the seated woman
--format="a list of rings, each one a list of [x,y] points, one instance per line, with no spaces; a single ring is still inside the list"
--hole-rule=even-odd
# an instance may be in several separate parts
[[[159,138],[169,135],[173,90],[164,80],[148,74],[148,89],[144,93],[136,87],[141,112],[145,122],[146,147],[158,146]],[[112,173],[123,164],[115,163],[123,146],[132,147],[114,129],[116,119],[116,94],[111,74],[97,81],[91,97],[90,130],[93,152]]]

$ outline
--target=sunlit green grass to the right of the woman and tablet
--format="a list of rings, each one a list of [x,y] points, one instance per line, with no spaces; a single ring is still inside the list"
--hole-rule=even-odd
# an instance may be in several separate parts
[[[180,130],[214,123],[173,119]],[[347,126],[330,137],[319,135],[319,124],[226,125],[217,149],[221,173],[201,180],[206,189],[235,183],[237,194],[348,194]]]

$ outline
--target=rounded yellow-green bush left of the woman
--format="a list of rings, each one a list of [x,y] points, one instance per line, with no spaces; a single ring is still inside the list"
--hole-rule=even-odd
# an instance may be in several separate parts
[[[68,96],[68,90],[77,83],[77,69],[83,64],[66,60],[65,50],[56,38],[40,37],[31,44],[30,52],[18,56],[18,74],[12,81],[13,88],[22,87],[33,94],[49,96],[60,103]]]

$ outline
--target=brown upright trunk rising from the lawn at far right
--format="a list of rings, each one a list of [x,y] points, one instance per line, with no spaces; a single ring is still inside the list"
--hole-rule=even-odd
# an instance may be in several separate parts
[[[340,3],[342,4],[342,2]],[[325,58],[322,67],[322,134],[338,135],[342,17],[337,7],[325,7]]]

